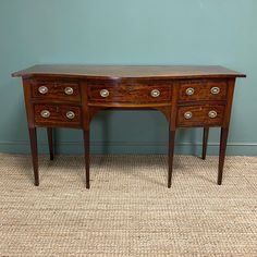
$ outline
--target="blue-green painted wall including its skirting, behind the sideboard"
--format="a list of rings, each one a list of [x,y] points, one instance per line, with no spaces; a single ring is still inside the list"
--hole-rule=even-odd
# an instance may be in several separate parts
[[[246,73],[235,91],[229,152],[257,154],[256,0],[0,0],[0,151],[28,152],[21,81],[35,63],[220,64]],[[100,113],[95,152],[164,152],[155,111]],[[200,130],[181,131],[178,152],[198,154]],[[209,154],[218,152],[211,130]],[[39,131],[46,150],[45,131]],[[82,133],[57,132],[61,152],[82,152]]]

